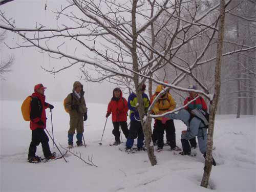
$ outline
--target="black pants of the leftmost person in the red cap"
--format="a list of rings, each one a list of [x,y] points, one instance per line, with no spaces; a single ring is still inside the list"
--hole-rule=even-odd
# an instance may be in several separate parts
[[[42,144],[42,152],[45,157],[49,157],[51,155],[50,147],[49,147],[49,138],[46,135],[43,129],[36,129],[32,131],[32,141],[29,146],[29,158],[35,157],[36,146],[40,143]]]

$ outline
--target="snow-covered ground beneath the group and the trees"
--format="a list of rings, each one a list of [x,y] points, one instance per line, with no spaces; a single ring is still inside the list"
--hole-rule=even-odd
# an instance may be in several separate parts
[[[126,154],[118,150],[120,146],[109,146],[114,141],[110,118],[100,146],[106,112],[103,104],[88,103],[84,132],[88,146],[72,150],[81,152],[84,159],[93,155],[98,167],[84,164],[71,155],[66,157],[68,163],[63,159],[28,163],[31,131],[22,118],[21,104],[22,101],[0,101],[1,191],[256,191],[255,116],[240,119],[234,115],[217,116],[214,157],[218,165],[212,168],[211,190],[200,187],[204,158],[198,148],[196,157],[188,157],[174,155],[165,146],[164,151],[156,152],[158,165],[152,167],[145,152]],[[69,115],[62,102],[52,104],[55,141],[67,146]],[[49,110],[47,117],[51,131]],[[185,125],[175,121],[175,126],[177,144],[181,146],[180,133]],[[50,147],[58,153],[51,141]],[[37,155],[42,157],[41,145],[37,147]]]

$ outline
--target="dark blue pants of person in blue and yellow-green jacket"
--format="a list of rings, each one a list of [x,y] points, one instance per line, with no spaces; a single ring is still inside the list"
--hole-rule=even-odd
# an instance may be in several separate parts
[[[129,130],[129,136],[126,141],[126,147],[132,148],[134,139],[137,139],[137,147],[143,147],[143,141],[144,141],[144,133],[142,130],[141,122],[140,121],[131,121],[131,126]]]

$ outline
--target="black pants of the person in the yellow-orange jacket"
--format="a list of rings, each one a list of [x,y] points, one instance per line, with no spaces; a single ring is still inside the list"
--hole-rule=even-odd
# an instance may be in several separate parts
[[[176,134],[174,121],[172,119],[166,121],[163,124],[160,120],[156,120],[156,132],[157,132],[157,146],[163,148],[163,135],[164,130],[166,131],[166,139],[170,145],[170,148],[176,147]]]

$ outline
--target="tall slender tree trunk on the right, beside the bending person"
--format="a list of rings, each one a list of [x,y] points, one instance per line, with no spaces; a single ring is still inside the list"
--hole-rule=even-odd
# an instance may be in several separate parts
[[[209,117],[209,127],[207,134],[207,151],[205,158],[204,174],[201,181],[201,186],[207,187],[211,172],[211,160],[212,160],[212,143],[214,136],[214,122],[215,115],[218,108],[218,101],[220,97],[221,88],[221,55],[223,48],[223,37],[224,37],[224,22],[225,22],[225,0],[220,0],[220,23],[218,31],[218,43],[217,43],[217,58],[215,66],[215,93],[214,98],[210,101],[210,117]]]

